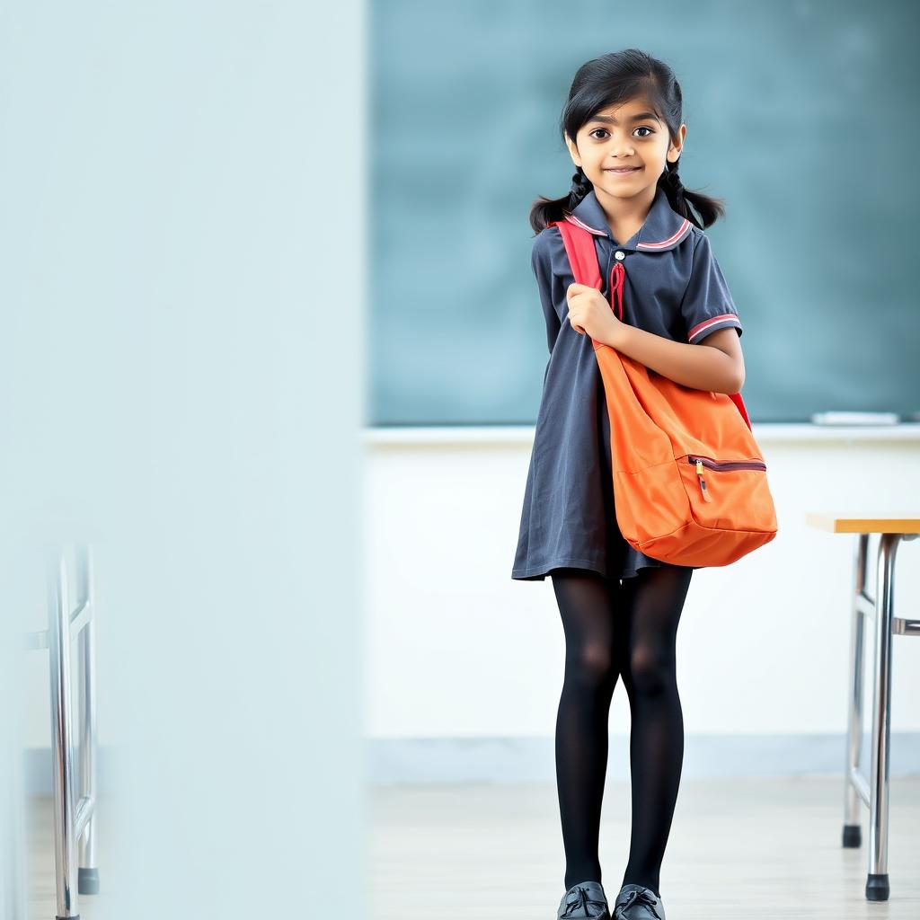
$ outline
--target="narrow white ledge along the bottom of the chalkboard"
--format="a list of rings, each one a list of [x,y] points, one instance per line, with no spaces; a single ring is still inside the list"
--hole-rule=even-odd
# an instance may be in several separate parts
[[[758,443],[781,442],[920,442],[920,422],[898,425],[813,425],[811,422],[752,422]],[[532,444],[533,425],[406,425],[362,430],[363,443],[393,445]]]

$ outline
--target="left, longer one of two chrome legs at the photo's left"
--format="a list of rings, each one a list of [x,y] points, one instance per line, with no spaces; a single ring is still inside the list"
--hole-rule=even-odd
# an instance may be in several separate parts
[[[46,559],[48,648],[52,696],[54,769],[54,868],[57,920],[79,917],[74,891],[74,784],[71,764],[70,603],[63,553]]]

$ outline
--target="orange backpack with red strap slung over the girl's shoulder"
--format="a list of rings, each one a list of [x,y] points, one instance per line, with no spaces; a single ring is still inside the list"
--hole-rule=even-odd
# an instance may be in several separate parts
[[[592,235],[568,221],[553,225],[575,281],[602,290]],[[610,417],[616,523],[627,543],[673,565],[727,566],[772,540],[776,510],[741,393],[675,383],[592,343]]]

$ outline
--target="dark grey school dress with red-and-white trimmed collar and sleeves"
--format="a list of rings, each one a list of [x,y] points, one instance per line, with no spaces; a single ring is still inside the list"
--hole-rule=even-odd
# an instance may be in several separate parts
[[[721,328],[742,334],[708,237],[673,211],[661,187],[645,223],[623,245],[611,234],[594,190],[566,219],[594,235],[608,301],[615,260],[623,263],[628,325],[691,344]],[[630,546],[616,524],[604,383],[591,336],[576,332],[567,318],[566,291],[575,279],[558,227],[535,237],[531,262],[546,317],[549,361],[512,579],[542,581],[557,568],[631,578],[638,569],[664,563]]]

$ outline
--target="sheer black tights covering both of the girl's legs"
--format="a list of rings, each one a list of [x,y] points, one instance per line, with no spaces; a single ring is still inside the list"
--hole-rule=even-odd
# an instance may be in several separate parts
[[[662,565],[607,580],[588,569],[550,577],[566,638],[556,722],[556,776],[565,887],[601,881],[598,838],[607,722],[616,678],[627,688],[632,832],[622,884],[659,893],[664,847],[684,761],[684,716],[674,646],[693,569]]]

